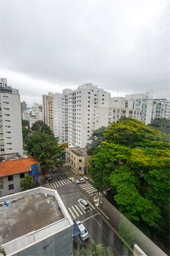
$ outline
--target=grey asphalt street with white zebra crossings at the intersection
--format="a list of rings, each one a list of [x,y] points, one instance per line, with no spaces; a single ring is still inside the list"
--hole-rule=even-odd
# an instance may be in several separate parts
[[[90,238],[84,241],[87,248],[90,248],[90,242],[93,240],[96,244],[103,244],[104,247],[109,246],[111,253],[114,255],[124,255],[121,240],[114,233],[110,223],[108,223],[88,198],[88,195],[93,191],[91,190],[90,183],[86,182],[86,184],[76,185],[75,181],[70,181],[58,168],[56,173],[51,174],[51,178],[49,180],[50,187],[58,191],[72,220],[75,219],[76,222],[81,221],[89,232]],[[80,188],[83,192],[80,191]],[[84,211],[79,206],[78,200],[80,198],[88,201],[90,205],[89,210]]]

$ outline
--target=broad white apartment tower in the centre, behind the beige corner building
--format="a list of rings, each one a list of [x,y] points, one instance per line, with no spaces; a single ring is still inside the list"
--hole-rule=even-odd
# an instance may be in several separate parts
[[[95,130],[97,108],[110,106],[110,93],[92,83],[69,93],[69,145],[84,147]]]

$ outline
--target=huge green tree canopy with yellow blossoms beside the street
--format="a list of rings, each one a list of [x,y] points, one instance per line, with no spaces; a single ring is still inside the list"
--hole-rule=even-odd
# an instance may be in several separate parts
[[[170,151],[162,133],[128,118],[111,123],[93,152],[88,169],[95,188],[110,187],[120,212],[146,235],[169,235]]]

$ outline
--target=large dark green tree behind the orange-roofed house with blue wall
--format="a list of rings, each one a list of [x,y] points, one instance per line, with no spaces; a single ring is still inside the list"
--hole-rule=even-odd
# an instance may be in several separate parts
[[[36,156],[40,162],[42,175],[46,171],[54,167],[62,165],[63,161],[60,159],[65,152],[63,146],[58,146],[59,138],[49,134],[33,133],[32,136],[27,136],[24,139],[24,150],[30,156]]]

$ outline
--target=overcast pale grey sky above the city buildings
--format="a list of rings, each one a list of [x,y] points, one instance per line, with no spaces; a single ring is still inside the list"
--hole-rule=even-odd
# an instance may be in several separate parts
[[[28,107],[85,82],[169,98],[168,2],[1,0],[0,77]]]

